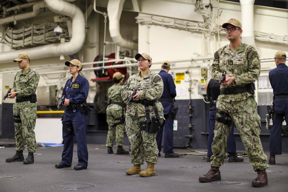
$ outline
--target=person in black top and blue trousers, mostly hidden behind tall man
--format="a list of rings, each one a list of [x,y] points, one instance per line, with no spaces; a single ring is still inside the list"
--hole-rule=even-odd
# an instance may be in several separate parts
[[[214,129],[215,129],[215,105],[214,101],[217,100],[220,95],[220,85],[214,79],[210,79],[207,86],[207,98],[210,100],[210,113],[209,113],[209,137],[207,143],[207,159],[206,161],[211,161],[210,157],[212,153],[212,143],[214,138]],[[227,139],[227,153],[229,153],[228,162],[242,162],[243,158],[236,156],[236,142],[234,136],[234,128],[231,129],[230,134]]]

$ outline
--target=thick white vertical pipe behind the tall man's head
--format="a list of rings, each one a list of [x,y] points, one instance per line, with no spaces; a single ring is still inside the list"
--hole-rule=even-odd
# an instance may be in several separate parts
[[[254,2],[255,0],[240,0],[241,24],[243,33],[242,42],[256,48],[254,40]]]

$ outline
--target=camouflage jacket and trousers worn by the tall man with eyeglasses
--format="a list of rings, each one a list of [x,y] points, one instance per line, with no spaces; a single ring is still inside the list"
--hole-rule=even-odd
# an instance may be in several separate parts
[[[229,87],[221,85],[220,88],[244,87],[249,83],[255,82],[260,74],[260,59],[255,48],[241,42],[240,46],[234,51],[234,57],[230,53],[230,46],[226,45],[221,47],[214,55],[212,64],[213,79],[218,82],[222,72],[226,71],[227,75],[230,77],[233,76],[236,81],[231,83]],[[259,138],[261,123],[256,107],[257,104],[254,96],[248,92],[228,95],[221,94],[216,103],[217,109],[228,113],[232,117],[254,171],[269,167],[265,163],[267,156],[263,152]],[[217,115],[221,117],[219,113]],[[228,117],[226,119],[231,120]],[[219,167],[223,165],[224,154],[227,148],[227,137],[230,130],[231,126],[228,127],[216,121],[215,137],[212,143],[212,166]]]

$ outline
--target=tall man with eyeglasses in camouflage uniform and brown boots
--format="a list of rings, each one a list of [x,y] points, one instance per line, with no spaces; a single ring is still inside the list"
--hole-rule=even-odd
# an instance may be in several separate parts
[[[229,126],[233,120],[248,154],[249,162],[258,176],[252,181],[254,187],[268,184],[265,163],[267,156],[259,138],[260,116],[255,101],[255,84],[260,74],[260,59],[256,49],[240,41],[241,23],[234,18],[222,25],[230,44],[219,48],[214,54],[212,76],[219,81],[226,71],[226,79],[220,85],[216,103],[215,137],[212,143],[211,169],[200,176],[200,182],[221,180],[219,167],[224,163]]]

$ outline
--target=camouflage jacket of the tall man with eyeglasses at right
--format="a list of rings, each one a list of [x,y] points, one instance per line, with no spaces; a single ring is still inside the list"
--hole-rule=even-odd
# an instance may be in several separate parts
[[[260,74],[260,59],[256,49],[245,43],[240,43],[239,47],[234,51],[234,56],[230,54],[232,51],[230,45],[221,47],[214,54],[212,64],[212,77],[215,81],[219,81],[223,71],[227,72],[229,77],[234,77],[235,82],[228,87],[221,85],[220,89],[245,87],[247,84],[257,81]],[[236,93],[228,95],[220,95],[218,100],[225,102],[245,100],[251,96],[248,92]]]

